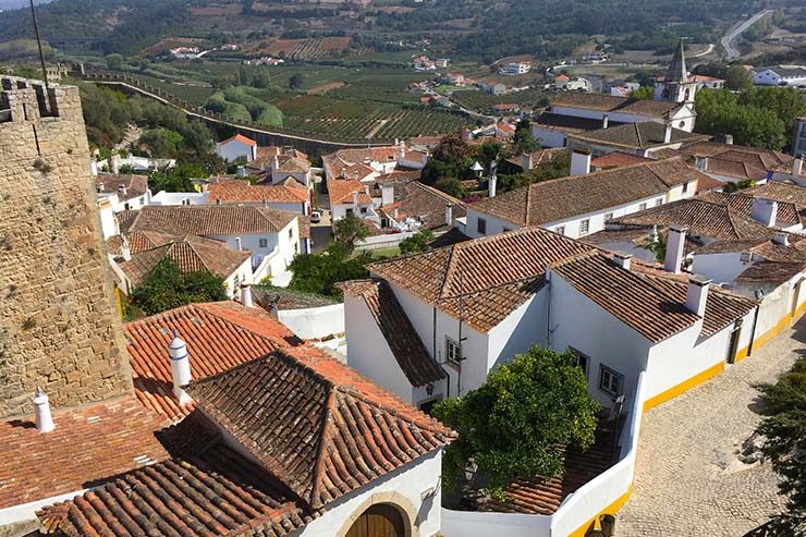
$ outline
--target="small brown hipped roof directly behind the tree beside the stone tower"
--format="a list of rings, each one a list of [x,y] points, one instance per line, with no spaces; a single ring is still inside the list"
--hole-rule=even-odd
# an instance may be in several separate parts
[[[212,239],[185,235],[151,249],[132,254],[131,260],[120,260],[118,265],[131,282],[137,285],[164,258],[173,260],[183,273],[207,270],[213,276],[227,279],[252,258],[252,252],[230,249],[225,243]]]

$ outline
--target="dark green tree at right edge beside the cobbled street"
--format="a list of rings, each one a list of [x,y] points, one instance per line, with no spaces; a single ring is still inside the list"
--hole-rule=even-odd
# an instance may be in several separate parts
[[[766,416],[757,429],[765,438],[761,452],[772,462],[779,490],[787,498],[776,535],[806,535],[806,357],[774,385],[757,388]]]

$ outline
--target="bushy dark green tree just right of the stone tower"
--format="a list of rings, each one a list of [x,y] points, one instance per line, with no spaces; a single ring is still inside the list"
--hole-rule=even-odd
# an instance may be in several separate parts
[[[166,257],[134,288],[129,300],[145,315],[155,315],[195,302],[225,301],[227,289],[223,278],[207,270],[183,273]]]

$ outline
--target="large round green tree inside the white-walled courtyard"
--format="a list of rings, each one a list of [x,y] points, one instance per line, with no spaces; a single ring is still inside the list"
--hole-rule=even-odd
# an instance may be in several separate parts
[[[599,404],[571,352],[534,346],[459,399],[440,402],[433,415],[459,432],[445,450],[442,476],[461,484],[468,460],[500,498],[516,477],[553,477],[563,469],[564,447],[594,443]]]

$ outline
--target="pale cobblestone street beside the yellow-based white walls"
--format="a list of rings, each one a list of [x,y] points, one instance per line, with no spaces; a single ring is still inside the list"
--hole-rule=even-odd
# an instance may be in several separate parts
[[[619,537],[742,536],[780,513],[769,464],[737,448],[760,420],[756,382],[774,381],[806,353],[806,318],[721,376],[644,416],[633,495]]]

